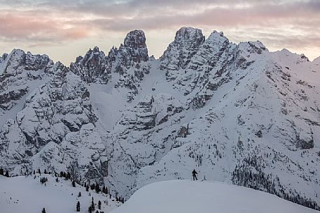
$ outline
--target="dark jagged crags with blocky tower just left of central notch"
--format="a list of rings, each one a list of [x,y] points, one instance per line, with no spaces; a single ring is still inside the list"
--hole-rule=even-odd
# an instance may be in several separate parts
[[[70,69],[88,83],[107,84],[111,78],[119,77],[114,87],[128,89],[127,101],[132,101],[138,94],[139,82],[150,71],[144,31],[130,31],[124,44],[112,47],[107,56],[98,47],[89,50],[85,57],[78,57],[71,63]]]

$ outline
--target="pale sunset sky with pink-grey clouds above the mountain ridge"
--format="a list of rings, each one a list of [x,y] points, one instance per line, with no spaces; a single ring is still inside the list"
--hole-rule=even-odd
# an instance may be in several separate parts
[[[320,56],[320,0],[0,0],[0,54],[20,48],[69,65],[95,45],[107,54],[142,29],[149,54],[160,57],[183,26]]]

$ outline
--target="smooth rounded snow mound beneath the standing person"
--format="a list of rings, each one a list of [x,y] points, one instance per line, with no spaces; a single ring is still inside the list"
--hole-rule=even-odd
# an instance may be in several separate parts
[[[111,213],[316,213],[262,191],[221,182],[165,181],[136,191]]]

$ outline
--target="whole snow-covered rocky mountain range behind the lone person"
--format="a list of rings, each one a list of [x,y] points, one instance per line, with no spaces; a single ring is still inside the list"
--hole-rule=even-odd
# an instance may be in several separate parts
[[[141,30],[70,68],[13,50],[0,58],[0,166],[69,170],[125,198],[195,168],[319,210],[317,61],[192,27],[160,59]]]

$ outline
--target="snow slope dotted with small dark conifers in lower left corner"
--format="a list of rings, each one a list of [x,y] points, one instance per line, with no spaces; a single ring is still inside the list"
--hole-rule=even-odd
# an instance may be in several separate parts
[[[47,177],[46,186],[41,184],[40,177]],[[78,197],[79,191],[81,197]],[[6,178],[0,175],[0,212],[41,212],[43,207],[48,213],[76,212],[76,203],[79,201],[81,212],[88,212],[92,197],[95,204],[102,202],[102,209],[99,211],[110,212],[120,206],[120,203],[109,198],[109,195],[95,193],[89,189],[85,191],[83,186],[76,184],[73,187],[70,180],[65,181],[59,177],[59,182],[51,175],[36,174],[32,176],[20,176]],[[106,201],[108,203],[104,203]],[[97,209],[97,205],[96,205]]]

